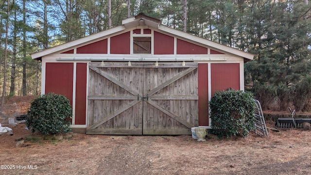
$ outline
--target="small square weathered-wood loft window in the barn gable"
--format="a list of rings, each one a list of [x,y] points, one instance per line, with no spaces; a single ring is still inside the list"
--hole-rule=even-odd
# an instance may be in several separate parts
[[[151,53],[151,37],[133,37],[133,53]]]

